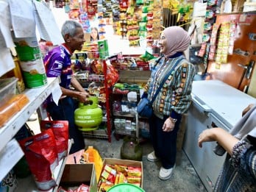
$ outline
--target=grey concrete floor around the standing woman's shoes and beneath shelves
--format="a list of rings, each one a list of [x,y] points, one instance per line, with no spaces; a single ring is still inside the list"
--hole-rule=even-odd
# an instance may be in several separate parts
[[[120,149],[123,139],[119,141],[112,137],[112,142],[104,139],[85,138],[86,147],[93,146],[99,151],[102,158],[118,158],[120,159]],[[193,166],[191,166],[188,157],[182,150],[177,152],[176,168],[170,179],[163,181],[158,176],[160,163],[152,163],[146,160],[146,155],[152,152],[152,145],[149,141],[141,143],[143,147],[143,189],[146,192],[204,192],[205,186],[199,179]]]

